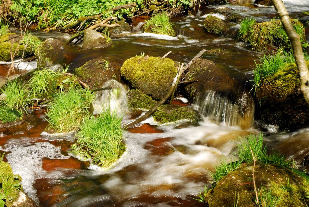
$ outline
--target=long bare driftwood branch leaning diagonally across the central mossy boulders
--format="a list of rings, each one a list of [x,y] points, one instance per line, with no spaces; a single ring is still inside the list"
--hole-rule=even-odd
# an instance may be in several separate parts
[[[164,103],[167,101],[167,99],[173,94],[174,90],[176,90],[176,88],[177,88],[177,80],[180,78],[180,76],[182,75],[182,73],[184,73],[184,71],[187,70],[187,69],[191,66],[191,64],[192,64],[194,61],[196,61],[197,59],[199,59],[199,58],[202,56],[202,54],[205,53],[205,51],[206,51],[205,49],[201,50],[201,52],[199,52],[199,53],[198,53],[186,66],[182,67],[182,66],[183,66],[183,65],[182,65],[182,66],[179,68],[179,71],[178,71],[176,77],[174,78],[174,81],[173,81],[173,83],[171,84],[171,87],[170,87],[170,89],[168,90],[168,92],[167,92],[167,94],[166,94],[165,97],[163,97],[160,101],[158,101],[157,104],[156,104],[152,109],[150,109],[149,111],[146,112],[146,114],[142,115],[142,116],[139,117],[138,119],[135,119],[133,122],[130,122],[130,123],[124,125],[123,128],[126,129],[126,128],[133,127],[134,125],[136,125],[136,124],[138,124],[138,123],[140,123],[140,122],[146,120],[149,116],[151,116],[153,113],[155,113],[155,111],[157,110],[157,108],[158,108],[159,106],[161,106],[162,104],[164,104]]]

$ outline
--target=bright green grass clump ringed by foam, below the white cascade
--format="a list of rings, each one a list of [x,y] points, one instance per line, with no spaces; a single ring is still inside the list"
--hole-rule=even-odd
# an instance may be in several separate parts
[[[115,111],[104,107],[103,113],[83,119],[78,140],[71,147],[76,155],[90,158],[95,165],[109,168],[125,152],[122,117]]]

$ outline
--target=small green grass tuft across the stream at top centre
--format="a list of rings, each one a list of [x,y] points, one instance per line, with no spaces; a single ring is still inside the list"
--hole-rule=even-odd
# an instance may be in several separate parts
[[[155,34],[165,34],[175,36],[170,18],[166,13],[159,13],[146,21],[144,25],[145,32],[152,32]]]

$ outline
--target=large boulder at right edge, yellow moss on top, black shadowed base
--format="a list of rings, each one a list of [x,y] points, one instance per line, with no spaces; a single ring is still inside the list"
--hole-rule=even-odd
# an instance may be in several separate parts
[[[265,77],[256,90],[256,99],[257,119],[280,129],[309,126],[309,109],[300,90],[300,77],[295,63],[286,64],[274,75]]]

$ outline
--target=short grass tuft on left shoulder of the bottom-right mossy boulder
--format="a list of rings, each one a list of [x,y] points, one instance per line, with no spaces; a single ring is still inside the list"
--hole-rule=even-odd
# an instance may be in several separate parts
[[[236,170],[240,166],[241,166],[241,162],[239,162],[239,161],[227,163],[226,160],[224,160],[222,163],[216,165],[214,167],[214,171],[209,172],[209,174],[212,177],[212,179],[214,180],[213,183],[217,183],[224,176],[226,176],[230,172]]]

